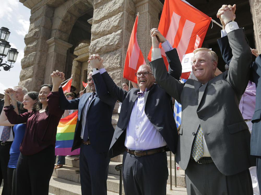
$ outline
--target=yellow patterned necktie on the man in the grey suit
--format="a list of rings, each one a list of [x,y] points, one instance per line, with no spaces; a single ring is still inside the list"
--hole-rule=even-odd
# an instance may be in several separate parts
[[[195,161],[198,161],[203,156],[203,133],[200,125],[195,135],[191,156]]]

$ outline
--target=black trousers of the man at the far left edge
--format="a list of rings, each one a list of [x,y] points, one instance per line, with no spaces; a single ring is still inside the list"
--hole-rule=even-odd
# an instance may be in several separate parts
[[[10,154],[9,154],[10,147],[11,147],[11,144],[8,144],[5,146],[0,145],[0,176],[2,175],[2,178],[4,180],[2,195],[8,194],[7,166],[8,166],[8,162],[9,162],[9,158],[10,158]],[[2,183],[2,178],[0,178],[1,183]]]

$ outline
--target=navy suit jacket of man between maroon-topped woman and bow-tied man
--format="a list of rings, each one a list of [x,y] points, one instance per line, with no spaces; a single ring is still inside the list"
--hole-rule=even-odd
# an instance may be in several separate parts
[[[98,96],[94,97],[87,111],[87,128],[88,136],[92,148],[96,152],[108,152],[111,143],[114,128],[111,124],[112,111],[116,100],[112,98],[105,85],[100,86],[100,94],[103,94],[104,99]],[[67,100],[63,94],[62,87],[59,88],[60,93],[60,108],[63,110],[78,109],[78,119],[74,132],[74,140],[72,151],[79,148],[81,141],[81,115],[86,101],[91,96],[91,93],[84,93],[80,98]]]

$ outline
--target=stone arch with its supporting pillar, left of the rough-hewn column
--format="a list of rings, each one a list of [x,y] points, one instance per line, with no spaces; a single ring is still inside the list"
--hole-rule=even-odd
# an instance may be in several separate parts
[[[93,10],[93,5],[87,0],[69,0],[54,10],[52,19],[51,39],[49,45],[47,64],[45,68],[45,83],[50,83],[48,77],[53,70],[64,71],[69,77],[72,70],[72,60],[77,57],[73,54],[76,47],[71,44],[70,34],[80,17]],[[54,45],[54,46],[52,46]],[[58,49],[62,48],[62,49]]]

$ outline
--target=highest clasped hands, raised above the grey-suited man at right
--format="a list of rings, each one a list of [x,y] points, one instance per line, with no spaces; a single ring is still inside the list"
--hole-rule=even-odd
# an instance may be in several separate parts
[[[223,29],[225,29],[226,24],[231,21],[235,20],[236,15],[236,4],[232,5],[222,5],[222,7],[217,12],[217,18],[220,19]]]

